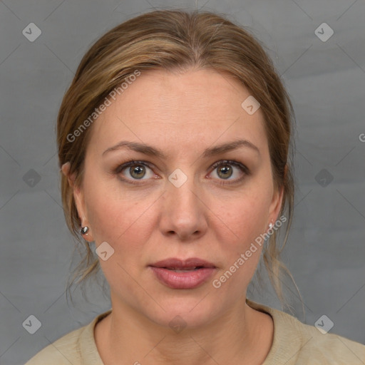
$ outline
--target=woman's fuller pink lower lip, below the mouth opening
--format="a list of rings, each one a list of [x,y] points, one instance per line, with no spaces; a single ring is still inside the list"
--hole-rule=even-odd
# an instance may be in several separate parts
[[[150,267],[155,272],[160,282],[172,289],[194,289],[209,279],[215,272],[215,267],[202,267],[202,269],[186,272],[175,272],[163,267]]]

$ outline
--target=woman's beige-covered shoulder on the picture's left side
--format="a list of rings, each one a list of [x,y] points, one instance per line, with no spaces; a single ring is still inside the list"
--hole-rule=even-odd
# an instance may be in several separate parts
[[[25,365],[103,365],[93,335],[96,323],[110,313],[99,314],[92,322],[57,339]]]

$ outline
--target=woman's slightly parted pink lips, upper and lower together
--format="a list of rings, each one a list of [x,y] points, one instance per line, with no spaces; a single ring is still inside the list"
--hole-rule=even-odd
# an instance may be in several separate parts
[[[216,271],[211,262],[192,257],[181,260],[164,259],[150,265],[155,277],[172,289],[194,289],[200,287]]]

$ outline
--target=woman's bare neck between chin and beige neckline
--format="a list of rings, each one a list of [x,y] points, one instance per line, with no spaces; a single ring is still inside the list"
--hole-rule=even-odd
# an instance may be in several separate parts
[[[116,309],[116,310],[115,310]],[[205,326],[173,331],[130,307],[115,307],[95,330],[103,363],[262,364],[272,344],[272,319],[245,298]]]

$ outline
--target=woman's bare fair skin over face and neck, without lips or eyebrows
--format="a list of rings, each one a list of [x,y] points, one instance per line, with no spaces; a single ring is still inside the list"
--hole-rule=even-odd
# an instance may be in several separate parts
[[[113,307],[95,330],[104,364],[262,364],[267,356],[272,318],[245,303],[261,249],[222,287],[212,286],[278,219],[282,203],[261,110],[249,115],[241,107],[248,96],[232,77],[213,70],[143,72],[93,123],[81,187],[63,166],[82,224],[90,227],[85,239],[115,250],[108,260],[99,258]],[[237,139],[259,153],[240,147],[202,156]],[[153,145],[167,158],[127,148],[102,156],[120,140]],[[151,167],[145,175],[133,175],[136,166],[113,173],[128,159]],[[225,163],[212,168],[222,160],[240,162],[249,173],[229,165],[232,175],[224,175]],[[177,168],[187,177],[181,187],[168,180]],[[200,287],[170,289],[148,267],[168,257],[199,257],[217,269]],[[177,315],[186,324],[178,334],[169,326]]]

